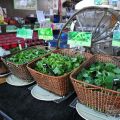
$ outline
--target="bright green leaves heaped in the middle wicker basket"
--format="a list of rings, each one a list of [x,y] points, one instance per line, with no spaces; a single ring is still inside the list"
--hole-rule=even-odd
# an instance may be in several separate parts
[[[83,55],[69,57],[52,53],[50,56],[38,61],[35,66],[35,70],[48,75],[60,76],[71,72],[84,60],[85,57]]]

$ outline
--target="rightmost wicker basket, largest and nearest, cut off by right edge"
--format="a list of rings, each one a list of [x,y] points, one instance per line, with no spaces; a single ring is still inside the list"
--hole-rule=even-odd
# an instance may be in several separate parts
[[[120,67],[120,63],[115,61],[114,57],[95,55],[82,64],[78,69],[73,71],[70,75],[70,79],[77,93],[78,100],[82,104],[97,111],[111,115],[118,115],[120,114],[120,92],[91,85],[82,80],[76,80],[76,76],[83,68],[88,68],[96,61],[104,63],[110,62]]]

